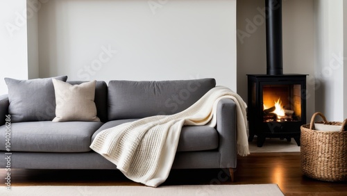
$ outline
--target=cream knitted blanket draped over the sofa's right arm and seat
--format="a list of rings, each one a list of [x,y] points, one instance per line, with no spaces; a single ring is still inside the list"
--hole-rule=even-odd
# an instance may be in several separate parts
[[[237,153],[249,154],[246,104],[232,90],[217,86],[195,104],[174,115],[157,115],[101,131],[90,148],[117,165],[128,179],[157,187],[169,176],[184,125],[216,125],[220,99],[237,104]]]

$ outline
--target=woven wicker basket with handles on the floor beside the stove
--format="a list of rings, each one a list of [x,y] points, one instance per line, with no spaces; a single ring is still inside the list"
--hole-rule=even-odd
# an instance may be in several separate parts
[[[341,125],[340,131],[314,130],[314,118],[324,124]],[[322,113],[314,113],[310,124],[301,126],[301,170],[307,177],[323,181],[347,180],[347,131],[344,122],[328,122]]]

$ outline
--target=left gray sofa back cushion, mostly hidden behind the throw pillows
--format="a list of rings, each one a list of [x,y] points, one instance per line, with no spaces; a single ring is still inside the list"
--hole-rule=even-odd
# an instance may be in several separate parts
[[[81,84],[86,81],[67,81],[71,85]],[[96,106],[96,116],[101,122],[108,121],[108,85],[105,81],[96,81],[94,102]]]

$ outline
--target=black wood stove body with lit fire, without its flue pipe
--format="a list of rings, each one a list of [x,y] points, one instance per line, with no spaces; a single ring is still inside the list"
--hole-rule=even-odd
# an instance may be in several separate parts
[[[248,75],[249,141],[294,138],[300,145],[300,126],[306,124],[306,75]]]

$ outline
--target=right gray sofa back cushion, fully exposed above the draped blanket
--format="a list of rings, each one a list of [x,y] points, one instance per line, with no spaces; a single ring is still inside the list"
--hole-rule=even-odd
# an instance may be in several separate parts
[[[108,120],[178,113],[192,106],[215,86],[214,79],[110,81]]]

